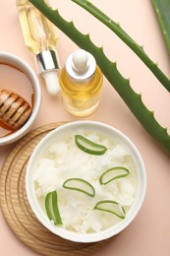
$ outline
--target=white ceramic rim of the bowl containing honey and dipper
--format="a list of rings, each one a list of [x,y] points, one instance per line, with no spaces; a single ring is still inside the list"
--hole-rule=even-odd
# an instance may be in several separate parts
[[[28,118],[28,121],[24,126],[22,126],[16,132],[0,138],[0,146],[3,146],[19,140],[20,138],[22,138],[24,135],[28,133],[38,114],[38,110],[41,102],[41,91],[40,91],[38,79],[34,71],[23,59],[21,59],[20,57],[12,53],[0,51],[0,63],[7,64],[21,70],[28,77],[28,80],[31,83],[33,94],[34,94],[32,113]]]

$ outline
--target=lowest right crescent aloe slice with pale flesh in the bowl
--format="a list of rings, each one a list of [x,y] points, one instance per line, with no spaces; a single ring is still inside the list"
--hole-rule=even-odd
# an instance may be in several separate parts
[[[116,215],[120,219],[125,219],[126,217],[126,212],[123,206],[121,206],[118,202],[112,200],[98,201],[94,206],[93,210],[110,213]]]

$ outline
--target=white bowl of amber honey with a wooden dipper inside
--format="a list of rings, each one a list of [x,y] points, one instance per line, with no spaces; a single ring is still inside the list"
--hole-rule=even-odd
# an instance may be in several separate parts
[[[40,85],[28,63],[15,54],[0,51],[0,146],[28,133],[40,102]]]

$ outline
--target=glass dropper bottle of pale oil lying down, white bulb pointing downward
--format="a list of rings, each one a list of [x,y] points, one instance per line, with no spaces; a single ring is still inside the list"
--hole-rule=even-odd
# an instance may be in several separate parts
[[[45,3],[49,5],[47,0]],[[17,0],[17,7],[25,43],[36,56],[39,74],[45,80],[48,93],[56,95],[60,89],[56,28],[28,0]]]

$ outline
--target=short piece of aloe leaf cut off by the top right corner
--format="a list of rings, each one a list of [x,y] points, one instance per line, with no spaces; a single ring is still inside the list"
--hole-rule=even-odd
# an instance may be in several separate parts
[[[170,55],[170,0],[152,0],[152,4]]]

